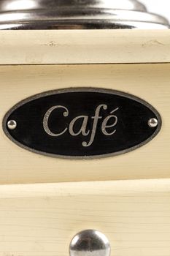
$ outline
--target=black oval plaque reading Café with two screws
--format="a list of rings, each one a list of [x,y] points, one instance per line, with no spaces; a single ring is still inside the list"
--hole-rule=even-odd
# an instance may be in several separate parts
[[[23,148],[51,157],[98,158],[132,151],[152,140],[161,116],[120,91],[79,88],[23,100],[4,117],[4,132]]]

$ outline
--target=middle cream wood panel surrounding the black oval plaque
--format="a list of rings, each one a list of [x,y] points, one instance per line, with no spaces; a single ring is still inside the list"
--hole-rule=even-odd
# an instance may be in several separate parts
[[[79,86],[134,94],[163,119],[150,143],[128,154],[90,160],[45,157],[12,143],[0,128],[0,184],[170,178],[170,64],[0,67],[0,120],[20,100],[42,91]]]

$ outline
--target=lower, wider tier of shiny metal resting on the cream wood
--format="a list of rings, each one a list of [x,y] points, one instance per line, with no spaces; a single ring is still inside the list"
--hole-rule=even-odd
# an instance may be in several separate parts
[[[149,12],[126,10],[39,10],[3,12],[0,29],[169,29],[166,18]],[[146,26],[147,24],[147,26]],[[155,24],[155,25],[154,25]],[[158,24],[158,26],[157,26]]]

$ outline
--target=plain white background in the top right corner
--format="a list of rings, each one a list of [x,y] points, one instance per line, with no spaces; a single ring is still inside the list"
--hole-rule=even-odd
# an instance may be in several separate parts
[[[121,1],[121,0],[120,0]],[[149,12],[155,12],[169,19],[170,22],[170,0],[139,0]]]

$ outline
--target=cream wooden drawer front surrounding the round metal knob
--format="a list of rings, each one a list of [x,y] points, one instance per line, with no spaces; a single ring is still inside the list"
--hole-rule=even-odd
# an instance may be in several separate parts
[[[170,180],[3,185],[0,227],[0,256],[69,256],[89,228],[111,256],[169,256]]]

